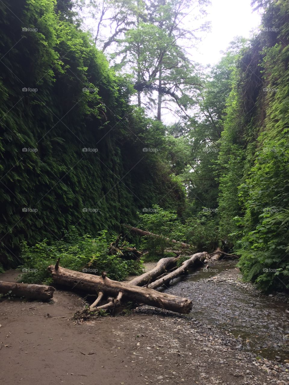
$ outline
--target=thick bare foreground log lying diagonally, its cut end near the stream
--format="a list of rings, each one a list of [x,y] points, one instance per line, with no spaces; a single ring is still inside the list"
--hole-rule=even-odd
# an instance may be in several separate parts
[[[119,292],[122,292],[123,298],[132,300],[146,305],[155,306],[166,310],[175,311],[177,313],[189,313],[192,309],[192,301],[188,298],[181,298],[167,293],[160,293],[153,289],[142,288],[134,286],[129,283],[118,282],[110,280],[107,277],[79,273],[54,266],[49,266],[48,270],[52,274],[55,283],[69,286],[71,288],[77,287],[87,293],[98,294],[99,291],[104,295],[116,297]]]

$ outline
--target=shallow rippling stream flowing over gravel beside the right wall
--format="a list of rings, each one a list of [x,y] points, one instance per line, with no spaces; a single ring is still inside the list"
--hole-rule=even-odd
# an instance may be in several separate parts
[[[230,266],[228,266],[230,265]],[[289,359],[289,304],[249,293],[242,286],[203,280],[226,269],[233,261],[219,261],[211,269],[200,268],[185,279],[174,280],[165,291],[193,301],[191,316],[243,338],[243,346],[264,358]],[[288,310],[287,310],[288,311]]]

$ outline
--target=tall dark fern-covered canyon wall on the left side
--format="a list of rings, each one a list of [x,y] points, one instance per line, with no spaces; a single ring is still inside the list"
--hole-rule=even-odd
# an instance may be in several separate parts
[[[19,264],[23,241],[60,239],[74,225],[80,234],[117,232],[138,209],[160,200],[165,207],[180,195],[161,151],[143,152],[161,150],[163,127],[140,119],[129,105],[128,77],[109,69],[79,20],[73,22],[71,3],[55,3],[0,2],[5,267]]]

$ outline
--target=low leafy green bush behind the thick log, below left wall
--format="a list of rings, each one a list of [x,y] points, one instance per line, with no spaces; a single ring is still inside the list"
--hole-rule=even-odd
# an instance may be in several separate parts
[[[72,229],[60,241],[49,243],[44,239],[32,247],[24,242],[21,254],[23,264],[19,267],[26,273],[21,281],[50,283],[52,278],[47,267],[55,264],[58,258],[62,267],[97,275],[106,271],[108,277],[113,280],[123,280],[127,275],[142,272],[141,261],[127,261],[120,255],[108,255],[109,244],[116,237],[108,241],[106,230],[98,234],[96,238],[91,238],[88,234],[78,236],[76,230]]]

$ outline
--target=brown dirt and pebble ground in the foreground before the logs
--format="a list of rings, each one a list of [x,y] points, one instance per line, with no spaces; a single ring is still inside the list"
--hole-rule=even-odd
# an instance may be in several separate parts
[[[289,363],[254,357],[228,331],[190,315],[141,306],[79,325],[71,317],[82,306],[81,297],[62,290],[50,303],[2,301],[0,383],[289,384]]]

